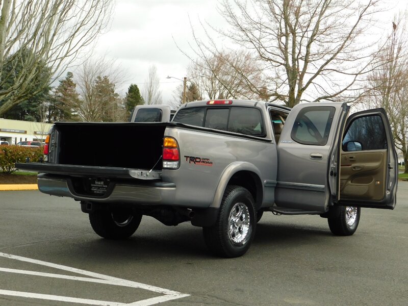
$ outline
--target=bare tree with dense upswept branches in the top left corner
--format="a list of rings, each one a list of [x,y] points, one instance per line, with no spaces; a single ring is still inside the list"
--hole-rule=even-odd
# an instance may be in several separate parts
[[[106,28],[112,0],[3,0],[0,6],[0,101],[7,98],[0,106],[2,115],[29,97],[26,89],[41,63],[49,68],[45,87],[78,59]],[[23,69],[17,74],[5,71],[10,63]]]

